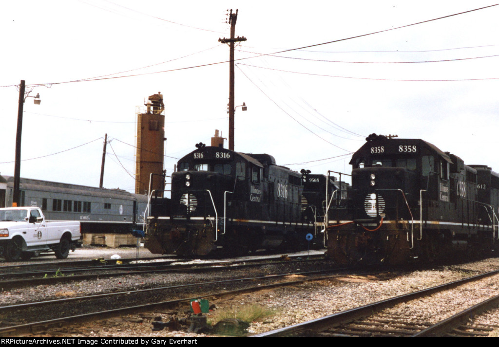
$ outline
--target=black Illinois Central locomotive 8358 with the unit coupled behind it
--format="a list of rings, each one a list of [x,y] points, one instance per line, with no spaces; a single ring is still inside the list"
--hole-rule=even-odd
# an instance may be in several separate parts
[[[499,175],[420,139],[370,135],[352,157],[352,221],[329,226],[336,262],[399,264],[498,250]]]

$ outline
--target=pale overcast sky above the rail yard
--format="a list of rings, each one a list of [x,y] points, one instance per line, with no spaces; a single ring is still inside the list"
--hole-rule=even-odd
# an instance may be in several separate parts
[[[230,37],[231,8],[247,38],[236,49],[235,102],[248,106],[236,111],[236,151],[349,173],[366,136],[395,134],[499,171],[499,6],[458,14],[494,4],[2,1],[0,173],[14,173],[21,79],[41,98],[24,104],[21,177],[98,186],[107,133],[104,186],[133,192],[136,108],[157,92],[168,174],[216,129],[227,137],[229,47],[218,39]]]

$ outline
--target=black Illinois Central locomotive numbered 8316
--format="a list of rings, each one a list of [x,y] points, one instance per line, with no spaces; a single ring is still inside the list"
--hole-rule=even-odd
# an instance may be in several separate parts
[[[146,248],[202,256],[306,245],[305,235],[316,228],[302,213],[299,173],[268,154],[197,147],[172,174],[169,211],[155,213],[162,200],[152,199]]]

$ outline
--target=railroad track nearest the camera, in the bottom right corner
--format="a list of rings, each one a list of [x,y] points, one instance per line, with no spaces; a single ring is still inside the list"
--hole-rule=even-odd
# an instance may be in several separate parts
[[[308,322],[281,328],[252,337],[435,337],[435,336],[488,336],[499,328],[493,325],[474,325],[470,318],[499,306],[499,295],[484,300],[437,324],[414,317],[394,316],[385,311],[409,301],[431,296],[499,274],[499,270],[453,281],[440,286],[382,300],[351,310],[339,312]]]

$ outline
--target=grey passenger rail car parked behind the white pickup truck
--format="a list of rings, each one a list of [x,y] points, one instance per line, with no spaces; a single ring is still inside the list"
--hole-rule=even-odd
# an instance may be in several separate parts
[[[6,178],[9,207],[13,177]],[[21,178],[19,189],[20,206],[40,207],[49,220],[78,220],[82,233],[131,233],[132,225],[143,226],[146,195],[30,178]]]

